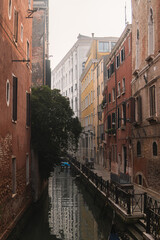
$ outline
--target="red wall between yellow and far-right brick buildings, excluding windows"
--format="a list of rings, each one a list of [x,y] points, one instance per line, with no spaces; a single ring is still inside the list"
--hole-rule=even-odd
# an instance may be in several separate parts
[[[130,38],[130,51],[129,51],[129,38]],[[113,112],[116,112],[116,109],[119,107],[122,109],[122,103],[126,102],[126,118],[130,119],[130,112],[131,112],[131,79],[132,79],[132,35],[131,32],[127,34],[125,37],[121,37],[119,40],[119,47],[115,51],[115,56],[120,53],[121,49],[125,47],[125,61],[120,64],[119,68],[116,69],[116,82],[115,82],[115,73],[107,81],[107,88],[106,88],[106,96],[107,96],[107,105],[105,108],[105,130],[107,130],[107,117],[110,114],[112,116]],[[112,60],[111,60],[112,62]],[[107,69],[110,66],[110,63],[107,64]],[[125,94],[122,94],[122,79],[125,78]],[[117,96],[118,96],[118,82],[120,82],[121,86],[121,95],[117,97],[117,102],[112,101],[112,89],[117,88]],[[117,87],[115,87],[117,86]],[[111,93],[111,103],[109,103],[108,95]],[[117,104],[117,106],[116,106]],[[122,110],[121,110],[122,113]],[[122,121],[121,121],[122,122]],[[122,147],[127,147],[127,169],[126,172],[130,175],[132,174],[132,160],[131,160],[131,123],[126,122],[125,130],[117,129],[116,136],[111,134],[111,136],[107,133],[106,134],[106,149],[105,149],[105,156],[107,157],[107,166],[109,168],[109,152],[112,153],[112,145],[117,145],[117,160],[112,159],[111,154],[111,172],[118,174],[119,170],[124,172],[124,163],[122,161]],[[120,155],[120,162],[118,164],[118,155]],[[118,169],[118,165],[120,169]]]

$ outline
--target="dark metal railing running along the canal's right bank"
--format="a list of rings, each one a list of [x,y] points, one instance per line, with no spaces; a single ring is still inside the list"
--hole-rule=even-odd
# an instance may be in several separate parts
[[[133,189],[125,191],[116,184],[103,180],[84,164],[76,160],[72,162],[99,190],[106,194],[106,198],[110,198],[127,214],[145,213],[146,232],[151,234],[154,239],[160,239],[160,201],[147,196],[147,193],[135,194]]]

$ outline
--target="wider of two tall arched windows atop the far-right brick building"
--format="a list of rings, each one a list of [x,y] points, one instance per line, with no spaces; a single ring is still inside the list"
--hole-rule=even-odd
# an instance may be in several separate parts
[[[153,9],[149,10],[149,20],[148,20],[148,55],[154,52],[154,26],[153,26]]]

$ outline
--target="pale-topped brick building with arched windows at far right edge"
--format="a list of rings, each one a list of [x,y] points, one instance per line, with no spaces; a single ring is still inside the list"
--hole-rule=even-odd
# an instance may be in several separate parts
[[[134,181],[160,191],[160,1],[132,0]]]

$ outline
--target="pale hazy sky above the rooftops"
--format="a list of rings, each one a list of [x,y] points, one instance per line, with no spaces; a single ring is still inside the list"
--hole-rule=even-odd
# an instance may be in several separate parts
[[[62,60],[79,34],[120,37],[131,23],[131,0],[49,0],[49,55],[51,68]]]

